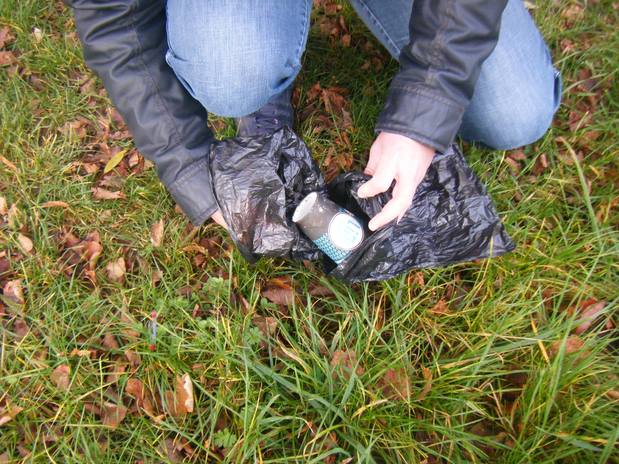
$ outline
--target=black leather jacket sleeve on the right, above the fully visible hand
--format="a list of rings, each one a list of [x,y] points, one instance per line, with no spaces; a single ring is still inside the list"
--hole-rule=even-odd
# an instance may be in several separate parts
[[[444,153],[469,105],[483,61],[498,40],[507,0],[415,0],[410,42],[376,131],[395,132]]]

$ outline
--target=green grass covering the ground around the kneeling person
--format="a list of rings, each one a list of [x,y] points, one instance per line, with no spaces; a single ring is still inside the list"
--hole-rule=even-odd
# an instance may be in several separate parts
[[[517,173],[503,162],[509,152],[462,145],[516,251],[351,287],[321,278],[333,293],[321,297],[307,291],[319,267],[280,259],[250,266],[233,250],[209,254],[204,269],[196,267],[193,253],[183,251],[191,241],[188,221],[175,213],[152,169],[125,179],[126,199],[93,198],[90,187],[100,174],[72,164],[84,157],[85,140],[56,130],[77,116],[93,121],[95,110],[109,104],[103,95],[97,107],[88,106],[100,84],[80,93],[73,79],[90,72],[71,39],[71,12],[41,0],[4,2],[0,28],[11,27],[16,36],[6,49],[27,72],[11,77],[8,67],[0,69],[0,154],[17,168],[0,166],[0,189],[7,205],[19,209],[18,224],[0,229],[0,251],[24,255],[10,278],[22,279],[25,304],[2,306],[0,405],[23,409],[0,426],[0,461],[619,462],[618,400],[606,395],[619,390],[616,333],[580,335],[582,346],[574,351],[576,316],[563,311],[604,300],[602,318],[617,322],[619,14],[610,1],[587,2],[566,27],[559,12],[568,3],[535,4],[534,17],[565,83],[555,124],[523,148],[527,158]],[[314,134],[308,122],[299,133],[317,161],[332,148],[352,153],[362,166],[397,63],[384,59],[386,51],[350,7],[342,13],[352,46],[337,40],[330,46],[313,26],[298,77],[298,111],[316,82],[348,88],[355,126],[350,147],[335,143],[337,131]],[[562,53],[566,39],[573,48]],[[362,71],[377,56],[374,50],[380,65]],[[584,68],[608,80],[607,90],[579,87]],[[569,131],[570,114],[594,93],[591,124]],[[221,137],[234,135],[232,126],[217,127]],[[587,141],[588,131],[599,134]],[[567,144],[557,140],[561,136]],[[130,139],[113,145],[132,148]],[[566,163],[572,149],[582,156]],[[533,175],[536,153],[547,155],[548,168]],[[52,200],[69,207],[43,207]],[[149,230],[160,218],[164,241],[155,247]],[[66,225],[79,238],[100,234],[94,288],[61,272],[67,255],[59,253],[53,230]],[[22,251],[18,229],[32,239],[31,255]],[[198,238],[220,235],[212,223],[197,231]],[[110,281],[108,262],[131,254],[151,271]],[[162,274],[156,285],[155,268]],[[286,277],[301,295],[293,306],[262,300],[267,281]],[[179,296],[197,281],[202,290]],[[254,329],[256,321],[231,302],[233,294],[258,316],[273,317],[274,335]],[[437,310],[441,300],[449,312]],[[196,304],[202,312],[194,316]],[[151,353],[146,322],[154,309],[161,325]],[[76,348],[94,353],[71,354]],[[354,350],[362,369],[355,369],[354,358],[347,367],[332,367],[337,350]],[[140,363],[126,365],[126,353],[137,354]],[[64,365],[67,389],[54,377]],[[115,365],[124,369],[117,379],[109,376]],[[165,398],[185,372],[193,380],[193,413],[154,420],[131,409],[130,380]],[[393,376],[402,380],[396,382],[400,393],[384,389]],[[119,402],[129,411],[118,427],[104,425],[92,409],[107,403],[115,410]],[[186,450],[168,453],[166,440]]]

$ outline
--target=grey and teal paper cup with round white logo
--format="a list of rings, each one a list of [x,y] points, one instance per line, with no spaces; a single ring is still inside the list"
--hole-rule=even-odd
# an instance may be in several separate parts
[[[301,200],[292,220],[337,264],[365,238],[365,228],[358,218],[318,192]]]

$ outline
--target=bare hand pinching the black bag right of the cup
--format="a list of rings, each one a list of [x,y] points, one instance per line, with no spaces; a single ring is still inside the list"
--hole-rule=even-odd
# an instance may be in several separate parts
[[[381,228],[397,218],[399,221],[413,202],[417,186],[423,180],[434,157],[434,148],[426,147],[405,135],[381,132],[370,148],[365,173],[372,178],[359,187],[360,198],[373,197],[387,191],[396,179],[391,200],[374,216],[368,227]]]

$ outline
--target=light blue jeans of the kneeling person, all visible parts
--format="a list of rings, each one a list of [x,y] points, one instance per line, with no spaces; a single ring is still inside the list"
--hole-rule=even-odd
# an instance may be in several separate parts
[[[398,58],[412,0],[349,0]],[[245,116],[297,76],[312,0],[168,0],[168,64],[211,113]],[[414,19],[413,19],[414,20]],[[509,0],[459,135],[508,149],[542,137],[561,100],[561,77],[521,0]]]

